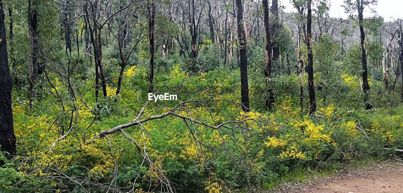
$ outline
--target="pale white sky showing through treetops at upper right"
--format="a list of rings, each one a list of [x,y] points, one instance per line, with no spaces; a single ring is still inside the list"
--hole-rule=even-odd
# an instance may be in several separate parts
[[[330,17],[347,18],[349,14],[344,12],[344,0],[328,0],[330,2]],[[297,10],[290,3],[290,0],[279,0],[280,4],[285,6],[285,12],[296,12]],[[403,18],[403,0],[378,0],[378,3],[372,5],[379,16],[384,18],[384,21],[393,21],[394,19]],[[364,8],[364,17],[374,16],[370,9]]]

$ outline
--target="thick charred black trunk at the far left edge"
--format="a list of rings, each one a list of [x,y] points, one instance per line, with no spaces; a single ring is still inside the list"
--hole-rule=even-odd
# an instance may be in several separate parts
[[[6,26],[3,2],[0,0],[0,145],[10,156],[17,153],[11,109],[11,75],[8,67]],[[0,163],[1,165],[2,163]]]

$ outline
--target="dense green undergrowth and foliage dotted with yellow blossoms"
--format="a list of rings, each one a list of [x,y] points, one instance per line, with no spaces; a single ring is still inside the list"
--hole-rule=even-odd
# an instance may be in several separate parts
[[[313,54],[318,111],[315,116],[307,116],[307,73],[303,73],[300,82],[295,73],[295,31],[285,23],[272,36],[274,45],[280,48],[280,59],[272,64],[272,78],[267,84],[264,41],[259,38],[262,33],[256,33],[256,37],[247,42],[249,98],[253,112],[245,113],[239,105],[237,42],[232,42],[235,53],[231,59],[226,56],[225,64],[225,45],[200,41],[197,42],[201,48],[198,57],[183,59],[175,42],[166,58],[159,49],[155,50],[154,91],[160,88],[161,93],[174,92],[178,100],[150,102],[139,117],[150,119],[124,128],[128,137],[116,132],[91,140],[101,131],[132,122],[147,102],[149,39],[127,45],[125,55],[131,55],[124,69],[120,93],[115,95],[122,61],[116,39],[108,37],[106,41],[107,36],[103,36],[102,64],[107,97],[96,99],[92,53],[82,52],[81,45],[80,54],[73,49],[67,57],[60,38],[59,20],[54,19],[60,7],[51,1],[40,2],[40,42],[42,54],[49,60],[43,57],[41,62],[46,61],[48,77],[38,76],[34,104],[29,107],[27,20],[25,15],[16,14],[14,54],[10,63],[15,88],[12,109],[18,156],[7,160],[0,152],[0,160],[6,163],[0,168],[0,192],[83,192],[83,188],[100,192],[106,191],[105,185],[109,184],[122,187],[122,191],[160,191],[162,181],[158,179],[160,174],[156,173],[156,167],[177,192],[251,192],[255,188],[269,189],[280,181],[302,181],[307,175],[322,172],[321,169],[326,171],[368,158],[385,158],[394,153],[392,149],[403,146],[403,107],[397,89],[401,83],[397,82],[395,91],[388,96],[383,94],[384,82],[379,69],[384,52],[382,45],[377,41],[366,42],[372,75],[369,76],[369,98],[374,107],[366,111],[361,91],[361,46],[347,47],[347,52],[341,56],[338,39],[326,33],[316,37]],[[295,1],[297,6],[305,6],[305,3],[305,0]],[[356,11],[353,3],[349,1],[347,5]],[[364,3],[368,5],[371,1]],[[5,4],[26,10],[26,2]],[[168,8],[170,4],[170,1],[163,1],[161,6]],[[228,4],[225,8],[233,7]],[[327,5],[321,2],[318,14],[323,16],[326,10]],[[260,12],[256,10],[251,15]],[[147,24],[147,20],[138,15],[133,18],[139,21],[132,26],[134,32],[131,33]],[[156,32],[156,45],[161,39],[168,37],[169,40],[178,35],[180,26],[171,22],[169,16],[157,14],[156,18],[156,26],[164,28]],[[300,14],[295,14],[295,19],[306,22]],[[383,20],[373,18],[365,22],[366,29],[372,31],[371,36],[376,36],[378,24]],[[80,35],[82,23],[79,18],[77,23],[71,24]],[[181,33],[184,38],[190,38],[187,30]],[[208,37],[203,30],[201,33],[201,37]],[[343,37],[351,35],[346,26],[340,33]],[[307,47],[304,43],[300,46],[301,59],[306,62]],[[275,102],[271,109],[266,109],[269,88],[273,88]],[[200,90],[204,91],[195,93]],[[153,117],[169,112],[179,102],[206,98],[212,101],[180,105],[177,113],[189,119],[171,115]],[[197,124],[195,120],[205,124]],[[208,127],[228,121],[234,123],[221,128]],[[382,151],[382,148],[391,150]],[[146,152],[155,165],[139,152]]]

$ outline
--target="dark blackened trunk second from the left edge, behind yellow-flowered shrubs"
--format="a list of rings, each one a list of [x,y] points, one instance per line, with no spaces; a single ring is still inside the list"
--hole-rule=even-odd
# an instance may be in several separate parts
[[[29,57],[29,107],[33,103],[33,84],[38,74],[38,51],[39,40],[37,36],[37,2],[36,0],[28,0],[28,28],[29,38],[31,41],[31,55]]]

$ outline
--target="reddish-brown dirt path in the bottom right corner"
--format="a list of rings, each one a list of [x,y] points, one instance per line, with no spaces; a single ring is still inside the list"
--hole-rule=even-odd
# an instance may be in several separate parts
[[[373,165],[339,177],[324,177],[296,185],[289,193],[403,193],[403,165]]]

